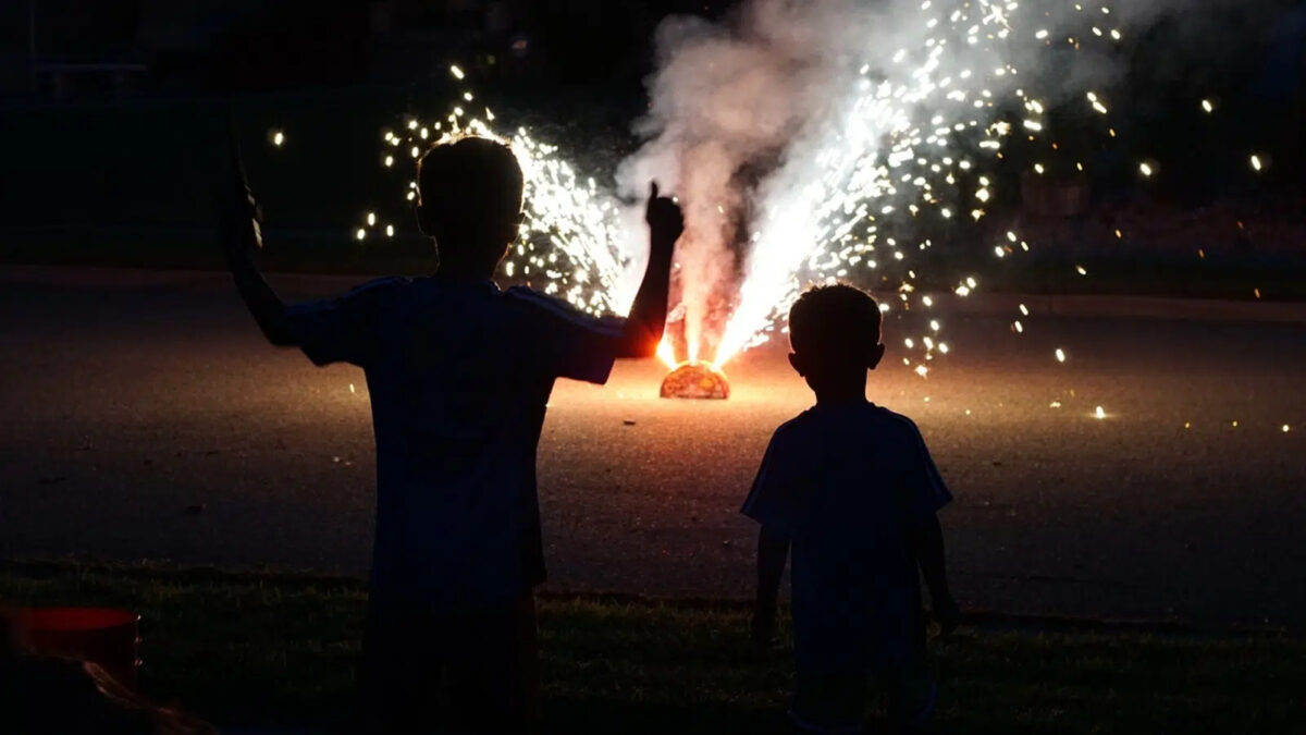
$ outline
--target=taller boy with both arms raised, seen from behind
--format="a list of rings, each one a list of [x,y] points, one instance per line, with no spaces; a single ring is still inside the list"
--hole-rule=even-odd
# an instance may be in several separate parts
[[[607,381],[662,339],[680,209],[652,187],[652,258],[629,318],[596,318],[491,277],[522,218],[504,145],[464,137],[418,166],[418,224],[439,268],[285,306],[253,264],[243,175],[223,238],[264,335],[367,373],[376,539],[363,677],[374,730],[520,732],[538,706],[533,590],[545,579],[535,445],[556,378]]]

